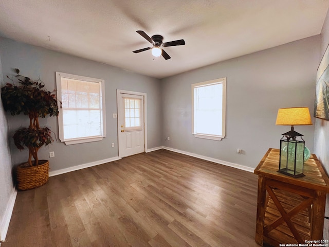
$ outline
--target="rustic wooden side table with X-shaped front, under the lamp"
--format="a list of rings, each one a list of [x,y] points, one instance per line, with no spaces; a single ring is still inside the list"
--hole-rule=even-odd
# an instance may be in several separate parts
[[[305,177],[279,173],[279,156],[279,149],[270,148],[254,170],[258,175],[255,241],[280,246],[322,240],[328,176],[315,154],[304,163]]]

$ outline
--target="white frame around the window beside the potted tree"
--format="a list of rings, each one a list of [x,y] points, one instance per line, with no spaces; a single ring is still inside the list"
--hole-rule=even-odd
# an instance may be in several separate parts
[[[87,136],[87,137],[79,137],[79,138],[71,138],[65,139],[64,138],[64,119],[63,119],[63,108],[59,108],[59,115],[58,115],[58,129],[59,129],[59,139],[61,142],[65,143],[66,145],[72,144],[79,144],[79,143],[89,143],[89,142],[97,142],[102,140],[106,137],[106,116],[105,116],[105,80],[91,78],[86,76],[78,76],[72,75],[62,72],[56,72],[56,87],[57,87],[57,97],[62,102],[62,78],[67,79],[74,79],[86,82],[96,82],[100,84],[100,98],[101,98],[101,134],[97,136]]]

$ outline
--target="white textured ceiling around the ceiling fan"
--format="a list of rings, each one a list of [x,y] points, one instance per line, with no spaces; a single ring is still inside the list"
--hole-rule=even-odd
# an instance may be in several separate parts
[[[165,78],[319,34],[329,0],[1,0],[0,36]],[[163,42],[153,60],[136,30]],[[49,38],[48,38],[49,37]]]

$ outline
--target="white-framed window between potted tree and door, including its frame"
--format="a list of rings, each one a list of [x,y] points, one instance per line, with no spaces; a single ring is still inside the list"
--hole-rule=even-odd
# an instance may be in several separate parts
[[[61,142],[95,142],[106,135],[104,80],[56,72]]]

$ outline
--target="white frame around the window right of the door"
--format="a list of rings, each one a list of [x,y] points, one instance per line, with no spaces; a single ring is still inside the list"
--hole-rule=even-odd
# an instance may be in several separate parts
[[[215,134],[205,134],[205,133],[197,133],[195,130],[195,119],[194,119],[194,109],[195,109],[195,102],[194,102],[194,89],[201,86],[207,85],[215,85],[215,84],[222,84],[223,85],[223,95],[222,95],[222,135],[215,135]],[[193,83],[191,85],[192,89],[192,135],[196,138],[204,138],[210,140],[222,140],[225,137],[226,133],[226,77],[218,78],[214,80]]]

